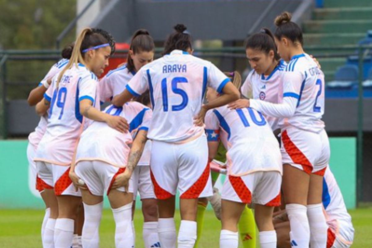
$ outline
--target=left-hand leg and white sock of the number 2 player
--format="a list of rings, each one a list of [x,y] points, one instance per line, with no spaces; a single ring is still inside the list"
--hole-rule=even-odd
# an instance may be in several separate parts
[[[291,223],[291,242],[298,247],[310,244],[310,227],[307,218],[307,196],[310,175],[289,164],[283,165],[282,189],[286,212]]]

